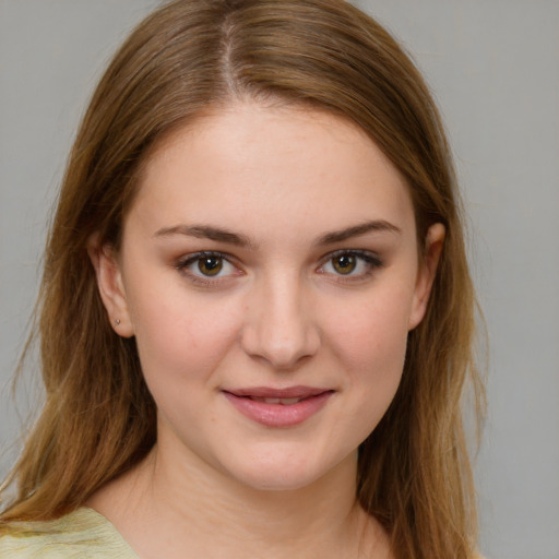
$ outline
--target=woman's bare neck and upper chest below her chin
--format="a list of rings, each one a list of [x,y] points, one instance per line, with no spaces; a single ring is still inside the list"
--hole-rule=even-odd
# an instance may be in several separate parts
[[[354,456],[311,485],[266,491],[169,454],[156,445],[91,501],[142,559],[377,557],[383,534],[356,502]]]

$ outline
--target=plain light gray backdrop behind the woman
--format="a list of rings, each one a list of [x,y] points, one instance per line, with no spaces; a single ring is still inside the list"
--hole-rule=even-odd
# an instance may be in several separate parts
[[[481,550],[559,558],[559,1],[362,0],[441,106],[472,222],[489,417]],[[0,474],[48,211],[102,69],[156,0],[0,0]],[[33,379],[19,395],[39,383]]]

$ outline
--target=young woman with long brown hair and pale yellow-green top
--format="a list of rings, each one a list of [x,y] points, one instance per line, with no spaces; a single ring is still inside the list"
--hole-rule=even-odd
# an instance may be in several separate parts
[[[459,210],[427,87],[356,8],[157,10],[70,157],[0,555],[475,557]]]

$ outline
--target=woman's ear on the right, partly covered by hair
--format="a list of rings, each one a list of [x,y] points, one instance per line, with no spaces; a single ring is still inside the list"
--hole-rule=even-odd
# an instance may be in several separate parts
[[[425,317],[427,302],[429,301],[429,295],[437,275],[437,266],[444,243],[444,225],[441,223],[436,223],[427,229],[424,254],[423,258],[419,259],[408,330],[414,330]]]

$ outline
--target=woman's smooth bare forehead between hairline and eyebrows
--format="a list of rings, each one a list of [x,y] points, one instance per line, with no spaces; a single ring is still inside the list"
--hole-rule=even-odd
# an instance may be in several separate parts
[[[226,221],[246,229],[277,225],[278,213],[328,229],[376,218],[414,226],[404,178],[360,128],[322,110],[257,103],[209,112],[166,138],[133,205],[160,226]]]

